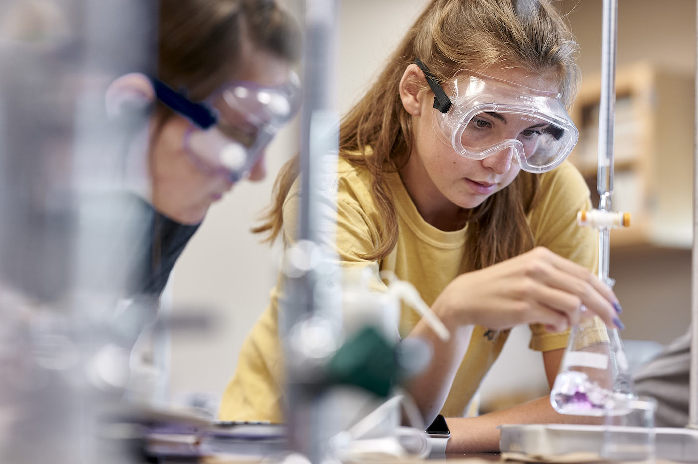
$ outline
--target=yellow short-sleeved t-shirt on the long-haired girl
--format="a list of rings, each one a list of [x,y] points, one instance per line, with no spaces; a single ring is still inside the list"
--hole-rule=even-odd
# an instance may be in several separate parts
[[[545,246],[558,255],[596,270],[597,232],[579,227],[577,211],[590,209],[589,190],[581,174],[570,163],[541,174],[540,197],[528,220],[535,245]],[[359,257],[378,244],[383,218],[371,197],[368,172],[339,160],[336,177],[336,252],[343,266],[370,266],[374,272],[389,269],[402,280],[413,283],[426,304],[463,271],[466,228],[444,232],[426,223],[419,215],[399,174],[387,179],[399,220],[396,247],[379,262]],[[292,243],[298,218],[298,181],[283,205],[285,239]],[[332,212],[334,214],[334,211]],[[377,275],[377,274],[376,274]],[[223,420],[283,421],[282,350],[278,336],[278,301],[281,278],[271,293],[271,301],[248,335],[240,352],[237,371],[223,394],[220,417]],[[407,336],[419,315],[403,307],[399,331]],[[530,348],[550,351],[567,345],[569,332],[551,334],[539,324],[531,326]],[[482,377],[496,360],[508,331],[493,332],[475,327],[470,345],[452,384],[441,413],[461,416]]]

